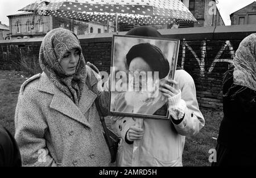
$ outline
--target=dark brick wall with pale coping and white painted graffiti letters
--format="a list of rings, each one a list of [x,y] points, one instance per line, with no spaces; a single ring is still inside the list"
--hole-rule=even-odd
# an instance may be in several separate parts
[[[222,78],[231,66],[241,40],[256,32],[255,25],[159,30],[164,37],[180,39],[178,64],[196,84],[200,107],[222,109]],[[80,35],[86,61],[110,72],[112,35]],[[125,35],[125,32],[119,32]],[[0,69],[19,70],[21,58],[37,60],[42,38],[0,41]]]

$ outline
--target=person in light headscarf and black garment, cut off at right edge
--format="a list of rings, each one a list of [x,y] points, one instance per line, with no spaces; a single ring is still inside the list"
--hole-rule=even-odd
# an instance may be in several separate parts
[[[213,166],[256,166],[256,33],[242,40],[225,73],[224,118]]]

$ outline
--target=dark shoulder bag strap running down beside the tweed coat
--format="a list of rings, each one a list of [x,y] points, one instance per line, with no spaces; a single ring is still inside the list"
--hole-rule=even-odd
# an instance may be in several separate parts
[[[90,82],[88,80],[86,80],[86,84],[87,84],[88,88],[93,92],[93,88],[90,85]],[[105,133],[104,136],[105,136],[106,143],[108,144],[109,148],[111,148],[111,147],[113,147],[113,142],[110,139],[108,128],[106,127],[106,123],[105,123],[105,118],[104,118],[104,116],[102,114],[100,105],[98,104],[98,96],[97,96],[96,100],[94,101],[94,103],[96,104],[96,108],[98,110],[98,114],[100,115],[101,124],[103,126],[104,133]]]

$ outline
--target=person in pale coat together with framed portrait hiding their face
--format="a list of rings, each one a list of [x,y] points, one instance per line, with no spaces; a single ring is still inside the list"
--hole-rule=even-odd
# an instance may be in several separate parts
[[[193,78],[176,66],[179,41],[166,40],[147,26],[133,28],[126,35],[119,41],[114,37],[112,53],[113,66],[123,74],[129,73],[128,79],[122,78],[128,90],[118,91],[113,98],[114,92],[110,94],[110,124],[122,138],[116,166],[183,166],[185,137],[199,133],[205,120]],[[137,76],[142,73],[146,77]],[[118,77],[115,75],[115,79]],[[119,80],[115,85],[113,78],[111,81],[112,89],[122,88]]]

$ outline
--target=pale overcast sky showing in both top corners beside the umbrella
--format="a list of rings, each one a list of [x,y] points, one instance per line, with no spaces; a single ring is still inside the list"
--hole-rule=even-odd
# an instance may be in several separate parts
[[[35,0],[1,0],[0,1],[0,21],[9,25],[7,15],[16,14],[19,9],[35,2]],[[249,5],[254,0],[218,0],[218,9],[226,25],[230,25],[229,15],[234,11]]]

